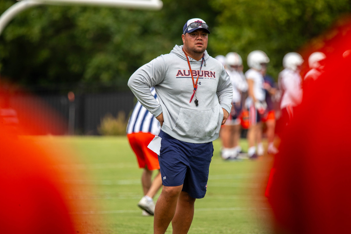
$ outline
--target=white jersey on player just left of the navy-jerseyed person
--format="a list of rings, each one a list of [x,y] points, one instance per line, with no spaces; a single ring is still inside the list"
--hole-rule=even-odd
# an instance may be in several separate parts
[[[245,76],[247,80],[253,80],[253,95],[255,96],[256,100],[264,101],[266,98],[266,93],[263,89],[263,75],[259,71],[250,68],[247,70],[247,72],[245,72]],[[252,99],[249,97],[246,100],[246,106],[250,107],[251,105]]]

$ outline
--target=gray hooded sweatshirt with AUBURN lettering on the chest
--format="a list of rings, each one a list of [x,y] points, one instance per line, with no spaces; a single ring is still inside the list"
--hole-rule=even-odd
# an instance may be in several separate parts
[[[163,113],[161,130],[181,141],[206,143],[218,138],[224,108],[231,111],[232,83],[223,65],[204,53],[205,62],[189,58],[194,82],[199,75],[194,100],[193,82],[183,46],[176,45],[171,53],[161,55],[140,67],[130,77],[128,86],[140,103],[155,117]],[[154,86],[157,102],[150,92]]]

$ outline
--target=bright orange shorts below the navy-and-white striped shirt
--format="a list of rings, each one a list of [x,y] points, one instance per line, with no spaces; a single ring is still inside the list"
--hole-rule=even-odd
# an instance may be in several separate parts
[[[158,163],[158,156],[151,149],[147,148],[149,143],[155,136],[151,133],[130,133],[127,134],[127,138],[130,146],[132,147],[140,168],[145,168],[149,170],[160,169]]]

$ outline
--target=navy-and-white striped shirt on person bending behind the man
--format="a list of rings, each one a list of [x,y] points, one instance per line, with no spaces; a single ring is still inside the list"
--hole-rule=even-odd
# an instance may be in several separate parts
[[[150,90],[154,98],[158,100],[155,88],[152,87]],[[160,122],[138,101],[128,120],[127,134],[144,132],[157,136],[160,133],[160,129]]]

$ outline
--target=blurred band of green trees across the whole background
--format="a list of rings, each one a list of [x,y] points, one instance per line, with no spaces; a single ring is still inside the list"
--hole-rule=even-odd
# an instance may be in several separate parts
[[[1,0],[0,12],[15,4]],[[350,11],[347,0],[163,0],[161,11],[40,6],[17,15],[0,35],[2,79],[24,86],[110,86],[127,89],[141,65],[182,44],[185,21],[210,25],[208,52],[254,49],[271,58],[273,75],[285,53]],[[246,65],[246,63],[244,63]],[[247,68],[247,67],[246,67]]]

